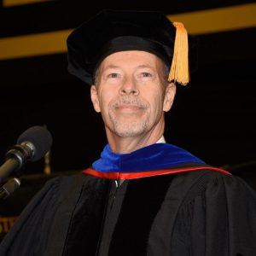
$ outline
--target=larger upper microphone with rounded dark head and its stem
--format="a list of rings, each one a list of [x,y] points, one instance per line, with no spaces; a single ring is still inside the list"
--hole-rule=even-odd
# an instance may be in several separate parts
[[[0,183],[12,172],[17,172],[26,161],[37,161],[44,157],[52,144],[52,136],[43,126],[32,126],[24,131],[17,144],[5,154],[5,162],[0,166]]]

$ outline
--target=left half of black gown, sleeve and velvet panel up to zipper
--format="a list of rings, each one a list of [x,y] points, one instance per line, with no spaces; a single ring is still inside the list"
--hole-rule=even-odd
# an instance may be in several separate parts
[[[49,180],[4,237],[0,255],[95,255],[107,189],[108,180],[82,173]]]

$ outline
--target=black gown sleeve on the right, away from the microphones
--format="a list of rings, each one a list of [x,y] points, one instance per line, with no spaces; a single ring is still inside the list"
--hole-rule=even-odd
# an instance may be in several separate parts
[[[177,214],[173,255],[255,256],[255,191],[240,177],[224,174],[196,187]]]

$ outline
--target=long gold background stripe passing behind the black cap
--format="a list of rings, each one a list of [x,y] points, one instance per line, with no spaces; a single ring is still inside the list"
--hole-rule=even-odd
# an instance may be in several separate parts
[[[168,18],[183,22],[189,33],[197,35],[255,27],[256,3],[168,15]],[[70,32],[72,30],[0,38],[0,60],[64,53]]]

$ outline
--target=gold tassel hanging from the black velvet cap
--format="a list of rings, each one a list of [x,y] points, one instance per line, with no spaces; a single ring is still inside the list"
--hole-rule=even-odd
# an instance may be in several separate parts
[[[172,66],[168,81],[186,85],[189,83],[189,42],[188,32],[181,22],[173,22],[176,37],[172,57]]]

